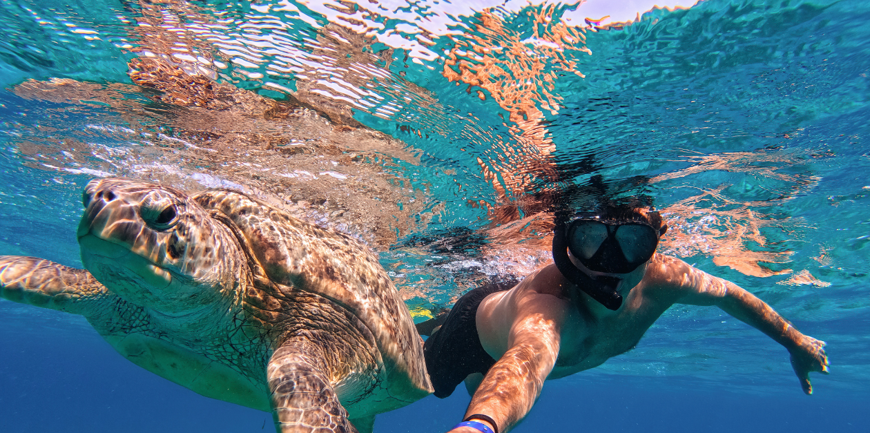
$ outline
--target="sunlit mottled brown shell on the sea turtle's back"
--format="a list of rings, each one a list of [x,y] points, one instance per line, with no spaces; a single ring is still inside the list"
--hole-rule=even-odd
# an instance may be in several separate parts
[[[284,290],[324,296],[371,332],[383,359],[384,372],[379,376],[385,380],[386,394],[395,400],[380,403],[377,412],[432,393],[422,339],[411,314],[365,244],[238,191],[207,190],[192,198],[235,226],[269,281]]]

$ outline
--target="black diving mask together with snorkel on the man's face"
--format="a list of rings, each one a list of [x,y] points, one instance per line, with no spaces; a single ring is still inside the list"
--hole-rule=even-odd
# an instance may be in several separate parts
[[[660,230],[643,220],[605,219],[581,213],[557,223],[552,238],[552,258],[559,272],[609,310],[619,310],[622,295],[616,291],[620,278],[592,278],[579,270],[568,257],[568,250],[589,270],[626,274],[646,263],[655,254]]]

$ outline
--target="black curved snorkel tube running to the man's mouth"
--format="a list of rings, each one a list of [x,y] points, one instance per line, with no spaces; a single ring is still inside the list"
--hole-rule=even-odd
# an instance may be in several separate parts
[[[608,310],[619,310],[622,306],[622,295],[616,291],[619,286],[619,278],[614,276],[599,276],[592,279],[586,272],[577,269],[571,258],[568,257],[568,239],[565,234],[565,224],[556,224],[552,236],[552,261],[556,268],[568,281],[574,283],[586,295],[604,305]]]

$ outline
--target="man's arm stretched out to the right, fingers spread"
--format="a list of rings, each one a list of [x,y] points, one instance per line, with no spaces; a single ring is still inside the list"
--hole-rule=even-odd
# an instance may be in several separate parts
[[[792,368],[800,380],[800,387],[806,394],[813,393],[809,373],[828,372],[827,355],[823,349],[825,342],[801,334],[770,305],[737,284],[682,264],[686,269],[682,272],[681,286],[687,290],[677,303],[715,305],[741,322],[764,332],[785,346],[791,354]]]

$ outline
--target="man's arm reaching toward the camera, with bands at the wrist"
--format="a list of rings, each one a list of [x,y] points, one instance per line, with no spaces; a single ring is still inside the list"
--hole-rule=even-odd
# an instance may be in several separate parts
[[[559,330],[566,310],[555,296],[527,296],[519,308],[508,338],[508,350],[490,368],[478,386],[465,417],[489,416],[499,433],[510,430],[540,396],[546,376],[559,356]],[[480,419],[476,422],[489,424]],[[451,433],[480,433],[469,427]]]

